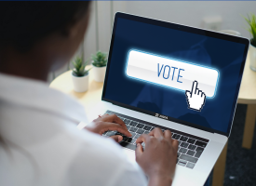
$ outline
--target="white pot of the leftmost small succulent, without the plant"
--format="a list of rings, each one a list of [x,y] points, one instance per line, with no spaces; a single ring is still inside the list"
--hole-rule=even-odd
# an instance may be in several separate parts
[[[82,77],[77,77],[72,73],[72,81],[75,92],[88,91],[88,74]]]

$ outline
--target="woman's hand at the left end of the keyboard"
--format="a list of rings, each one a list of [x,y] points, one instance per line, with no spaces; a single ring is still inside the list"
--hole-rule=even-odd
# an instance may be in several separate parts
[[[126,135],[127,137],[131,137],[131,134],[128,132],[128,127],[126,126],[126,124],[115,114],[104,114],[102,116],[99,116],[85,128],[87,128],[91,132],[100,135],[108,130],[116,130]],[[123,140],[123,137],[121,135],[115,135],[110,138],[114,139],[116,142],[120,142],[121,140]]]

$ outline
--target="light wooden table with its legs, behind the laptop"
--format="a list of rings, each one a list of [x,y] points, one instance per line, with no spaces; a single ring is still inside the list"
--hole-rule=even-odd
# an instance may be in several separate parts
[[[92,79],[92,71],[89,74],[89,87],[85,93],[74,92],[71,78],[71,71],[62,73],[51,84],[50,87],[61,90],[62,92],[74,96],[85,106],[86,112],[101,101],[103,83],[95,82]],[[242,147],[251,148],[253,131],[256,119],[256,73],[249,69],[249,58],[246,62],[245,72],[240,87],[238,103],[248,104],[248,111],[245,122],[244,139]],[[213,171],[212,186],[222,186],[224,179],[225,161],[227,144],[225,145]]]

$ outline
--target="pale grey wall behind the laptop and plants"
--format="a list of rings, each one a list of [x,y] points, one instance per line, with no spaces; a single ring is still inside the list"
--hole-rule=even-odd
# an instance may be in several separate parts
[[[242,36],[249,37],[245,30],[246,22],[241,15],[246,16],[249,12],[256,14],[255,7],[255,1],[94,1],[84,41],[85,59],[89,59],[99,49],[108,51],[116,11],[195,27],[202,27],[205,17],[221,16],[222,30],[236,30]],[[80,47],[77,54],[82,49]],[[69,66],[72,67],[68,64],[50,73],[48,81],[67,71]]]

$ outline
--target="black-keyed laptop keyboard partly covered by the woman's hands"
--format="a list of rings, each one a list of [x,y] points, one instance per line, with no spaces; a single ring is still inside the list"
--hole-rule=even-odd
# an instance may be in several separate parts
[[[111,137],[114,135],[121,135],[123,136],[123,140],[120,142],[120,145],[133,151],[136,149],[135,141],[141,136],[141,134],[148,134],[155,127],[161,128],[162,131],[165,131],[166,129],[170,130],[172,133],[172,139],[179,141],[179,148],[177,153],[177,164],[179,166],[194,168],[196,162],[204,152],[209,142],[207,139],[202,139],[200,137],[186,134],[165,126],[157,126],[155,124],[129,117],[124,114],[114,113],[111,111],[107,111],[106,113],[116,114],[118,117],[120,117],[125,122],[132,137],[128,138],[127,136],[117,131],[107,131],[102,136]],[[144,147],[143,143],[141,145]]]

